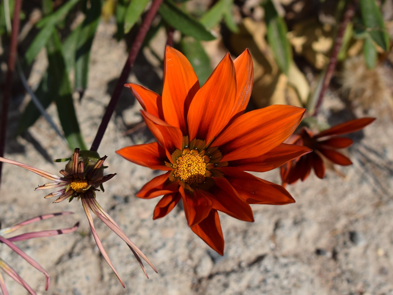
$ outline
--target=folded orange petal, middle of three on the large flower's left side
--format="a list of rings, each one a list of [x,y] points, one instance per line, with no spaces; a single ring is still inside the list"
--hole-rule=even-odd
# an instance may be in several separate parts
[[[151,133],[157,138],[158,142],[165,147],[168,159],[172,159],[171,154],[176,150],[182,150],[183,133],[179,128],[171,126],[149,114],[148,112],[141,111],[143,120],[145,120],[147,127]]]

